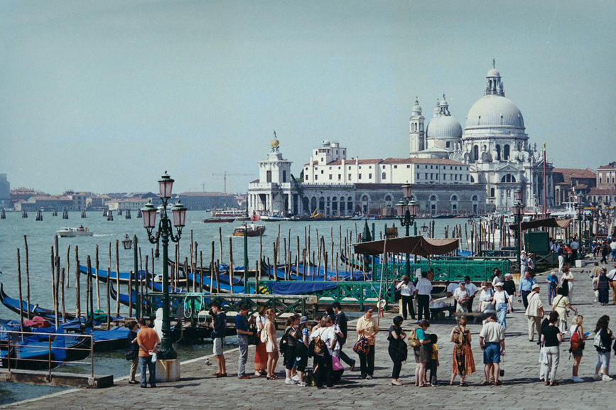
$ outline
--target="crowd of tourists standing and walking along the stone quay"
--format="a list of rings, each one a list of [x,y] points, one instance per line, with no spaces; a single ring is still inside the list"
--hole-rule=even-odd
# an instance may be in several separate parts
[[[544,306],[541,296],[541,286],[536,280],[534,269],[530,262],[531,255],[526,259],[526,267],[522,268],[522,277],[516,286],[511,274],[502,275],[495,269],[492,281],[483,281],[477,288],[466,276],[458,284],[448,284],[447,294],[455,301],[455,311],[458,315],[457,324],[449,334],[453,342],[451,357],[453,366],[450,369],[448,384],[453,385],[460,377],[459,385],[467,386],[467,377],[476,372],[473,342],[468,329],[468,317],[482,321],[478,345],[482,350],[484,363],[483,385],[502,384],[500,362],[505,355],[505,335],[507,333],[507,314],[514,311],[514,301],[521,303],[528,324],[528,340],[539,345],[539,379],[546,386],[558,385],[556,370],[561,355],[561,345],[567,342],[568,351],[573,356],[571,380],[583,382],[579,377],[579,366],[585,349],[585,341],[592,334],[583,330],[583,316],[578,315],[573,305],[573,283],[580,281],[571,273],[568,263],[564,262],[560,271],[551,271],[546,276],[548,303]],[[401,313],[392,320],[389,326],[387,352],[392,362],[391,384],[401,386],[400,374],[404,362],[414,357],[414,384],[416,387],[427,387],[439,384],[437,370],[440,365],[438,336],[429,333],[431,302],[431,278],[428,272],[422,272],[421,278],[413,283],[404,276],[397,285],[401,293]],[[560,276],[560,277],[559,277]],[[595,262],[590,273],[593,278],[595,301],[606,305],[609,301],[609,289],[612,288],[613,303],[616,304],[616,264],[609,272],[600,262]],[[577,286],[576,286],[577,288]],[[576,291],[579,292],[579,291]],[[477,298],[477,311],[473,313],[473,301]],[[416,305],[415,305],[416,303]],[[570,323],[569,314],[573,312]],[[374,377],[374,358],[377,349],[377,334],[379,326],[373,317],[373,309],[368,307],[357,319],[355,332],[348,328],[347,317],[340,303],[333,303],[318,315],[315,320],[306,316],[291,315],[287,318],[282,337],[276,335],[275,311],[261,306],[256,313],[249,315],[248,306],[240,306],[235,317],[239,359],[237,377],[251,379],[266,377],[269,380],[278,379],[276,366],[280,355],[283,356],[285,383],[296,384],[299,387],[314,385],[316,387],[332,388],[340,382],[345,372],[344,362],[350,371],[355,369],[356,360],[347,355],[345,345],[350,340],[352,350],[360,362],[360,378]],[[404,330],[404,320],[411,316],[416,320],[414,328]],[[215,377],[227,377],[227,364],[223,352],[227,330],[227,318],[221,306],[212,303],[213,352],[217,361]],[[417,319],[416,319],[417,318]],[[616,355],[616,344],[609,328],[610,317],[602,315],[596,322],[593,347],[598,352],[598,362],[593,379],[611,380],[609,375],[610,352],[612,345]],[[129,342],[135,355],[131,361],[129,383],[138,383],[135,379],[136,369],[141,368],[141,387],[156,387],[155,365],[160,335],[148,328],[143,319],[129,323],[131,333]],[[136,332],[138,330],[139,332]],[[407,328],[408,329],[408,328]],[[256,335],[255,335],[256,332]],[[535,339],[535,336],[537,337]],[[247,374],[248,346],[251,338],[256,339],[254,352],[254,375]],[[476,346],[476,345],[475,345]],[[410,347],[410,350],[409,350]],[[442,353],[442,351],[441,351]],[[311,366],[309,365],[312,359]],[[150,377],[146,379],[146,370]],[[445,383],[446,384],[446,383]]]

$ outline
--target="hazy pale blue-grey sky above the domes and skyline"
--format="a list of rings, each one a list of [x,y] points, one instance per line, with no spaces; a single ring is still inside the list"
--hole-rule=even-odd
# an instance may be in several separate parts
[[[276,131],[404,158],[416,97],[465,126],[492,59],[557,168],[616,160],[616,3],[0,0],[0,173],[48,193],[246,192]]]

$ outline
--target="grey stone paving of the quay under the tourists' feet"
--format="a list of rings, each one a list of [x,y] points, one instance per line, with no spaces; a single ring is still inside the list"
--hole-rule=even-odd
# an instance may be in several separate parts
[[[591,280],[588,277],[595,259],[586,259],[586,266],[573,269],[575,275],[573,287],[573,306],[584,316],[583,328],[593,331],[600,315],[611,315],[616,320],[616,306],[600,306],[593,303]],[[536,276],[541,284],[541,296],[547,304],[546,274]],[[612,296],[610,292],[610,301]],[[598,409],[613,405],[609,399],[616,388],[616,379],[612,382],[593,382],[597,354],[592,340],[586,343],[586,350],[580,365],[580,377],[585,383],[571,382],[571,365],[573,360],[567,352],[569,342],[561,345],[561,361],[557,378],[561,382],[557,387],[546,387],[539,383],[539,347],[528,341],[526,317],[521,303],[514,303],[515,311],[507,316],[507,339],[504,357],[503,385],[499,387],[480,386],[483,375],[482,352],[479,348],[481,325],[470,325],[472,332],[472,349],[475,354],[477,373],[467,378],[469,387],[449,386],[452,367],[453,343],[449,341],[450,330],[455,323],[445,320],[433,323],[428,333],[436,333],[441,353],[441,366],[438,368],[437,387],[414,387],[414,362],[406,362],[402,367],[400,380],[402,387],[391,386],[391,360],[387,353],[387,329],[394,314],[387,313],[381,318],[381,331],[377,335],[377,354],[374,379],[359,378],[359,361],[355,372],[346,371],[343,384],[335,389],[316,389],[315,387],[297,387],[284,384],[282,360],[279,361],[279,380],[266,380],[264,377],[238,380],[237,377],[216,379],[215,360],[212,365],[205,365],[205,357],[190,360],[181,367],[182,379],[178,382],[158,383],[156,389],[140,389],[139,385],[128,384],[127,378],[117,378],[116,386],[108,389],[72,389],[67,392],[45,396],[38,400],[21,401],[3,406],[6,409],[41,409],[49,404],[58,409],[290,409],[308,406],[310,409],[464,409],[479,407],[481,409],[545,409],[556,405],[570,409]],[[549,311],[549,309],[546,309]],[[570,317],[571,323],[571,317]],[[405,330],[414,327],[407,321]],[[350,328],[353,328],[350,325]],[[612,329],[616,324],[612,323]],[[355,353],[347,346],[351,357]],[[229,375],[237,369],[237,349],[225,353]],[[249,350],[248,372],[251,372],[254,346]],[[181,358],[180,358],[181,359]],[[281,358],[282,359],[282,358]],[[616,364],[615,364],[616,365]],[[128,366],[126,368],[128,371]],[[615,372],[612,370],[612,374]],[[459,380],[459,378],[458,378]],[[44,401],[40,401],[44,400]]]

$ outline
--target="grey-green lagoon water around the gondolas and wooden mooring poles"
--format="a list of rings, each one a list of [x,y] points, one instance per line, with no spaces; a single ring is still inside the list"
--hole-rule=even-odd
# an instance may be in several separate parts
[[[134,214],[134,212],[133,212]],[[28,218],[22,218],[21,212],[6,212],[6,220],[0,220],[0,271],[3,272],[0,281],[4,285],[4,291],[13,298],[18,298],[18,281],[17,281],[17,249],[20,249],[21,257],[21,278],[22,278],[22,294],[26,298],[26,250],[24,243],[24,235],[28,241],[28,269],[30,275],[30,290],[31,303],[38,303],[41,307],[52,308],[51,302],[51,248],[54,245],[54,236],[56,231],[62,227],[78,227],[83,225],[90,232],[94,233],[92,237],[72,237],[58,238],[60,266],[67,268],[67,278],[69,286],[65,288],[65,305],[67,311],[75,311],[75,247],[79,248],[80,264],[85,265],[87,255],[92,259],[92,266],[95,263],[96,247],[99,248],[99,269],[107,269],[111,267],[115,271],[115,242],[118,244],[119,271],[129,271],[134,269],[134,251],[125,250],[122,246],[122,239],[128,234],[132,239],[136,234],[141,248],[141,255],[145,261],[145,256],[153,253],[154,245],[148,242],[146,230],[143,227],[143,220],[137,219],[133,215],[133,219],[126,220],[124,215],[114,215],[114,221],[107,221],[106,217],[102,216],[102,212],[87,212],[87,218],[81,218],[80,212],[69,212],[69,219],[63,220],[61,212],[58,217],[53,217],[51,212],[43,212],[43,221],[35,220],[36,213],[31,212]],[[244,238],[233,237],[232,232],[235,227],[238,227],[241,222],[234,223],[203,223],[202,219],[207,215],[202,211],[188,211],[186,217],[186,226],[184,227],[182,238],[180,239],[180,261],[188,256],[190,261],[189,249],[191,234],[193,241],[198,244],[198,251],[203,253],[203,264],[210,264],[212,242],[215,243],[215,259],[221,259],[222,262],[229,264],[229,240],[233,246],[234,265],[244,265]],[[400,227],[399,222],[394,220],[374,220],[368,221],[368,225],[372,230],[374,222],[377,238],[380,238],[379,232],[384,231],[384,225],[388,227],[396,225],[401,236],[404,235],[404,228]],[[427,220],[418,220],[418,225],[423,225]],[[443,237],[445,226],[456,224],[465,224],[465,219],[457,220],[436,220],[436,236]],[[361,234],[364,221],[311,221],[311,222],[261,222],[261,225],[266,226],[264,236],[249,237],[249,266],[254,269],[255,261],[259,258],[259,244],[262,241],[263,255],[269,257],[273,262],[273,243],[276,242],[280,227],[280,246],[283,248],[283,238],[287,242],[291,242],[291,252],[293,257],[296,255],[297,237],[300,239],[300,247],[305,247],[305,232],[310,228],[310,249],[318,249],[317,231],[319,236],[325,239],[325,248],[331,252],[331,234],[333,233],[334,252],[339,251],[340,232],[342,232],[342,246],[344,246],[344,238],[352,232],[352,237],[355,237],[355,232]],[[222,250],[219,244],[219,229],[222,232]],[[413,228],[411,227],[411,234]],[[109,247],[111,244],[111,260],[109,259]],[[288,243],[287,243],[288,246]],[[67,257],[67,251],[70,249]],[[170,244],[169,254],[173,257],[175,244]],[[162,249],[161,249],[162,254]],[[331,257],[330,257],[331,258]],[[283,260],[283,258],[281,258]],[[330,259],[331,260],[331,259]],[[154,272],[161,271],[161,259],[155,260]],[[85,280],[80,281],[82,286],[82,312],[85,311]],[[124,290],[126,292],[126,290]],[[101,286],[101,295],[104,300],[104,287]],[[96,302],[94,302],[95,308]],[[106,302],[101,301],[101,305],[105,308]],[[115,303],[112,301],[112,310],[115,308]],[[126,312],[125,306],[120,306],[121,311]],[[0,306],[0,318],[16,319],[19,317]],[[227,347],[235,347],[236,338],[227,338]],[[178,358],[180,360],[189,360],[194,357],[212,354],[212,344],[193,346],[176,346]],[[97,353],[94,357],[94,373],[95,374],[114,374],[115,377],[122,377],[129,373],[129,362],[124,360],[123,352],[104,352]],[[89,367],[67,364],[61,365],[54,371],[65,372],[90,372]],[[7,398],[11,401],[22,400],[32,396],[40,396],[64,389],[63,387],[40,387],[30,384],[11,384],[0,383],[0,404],[1,400]]]

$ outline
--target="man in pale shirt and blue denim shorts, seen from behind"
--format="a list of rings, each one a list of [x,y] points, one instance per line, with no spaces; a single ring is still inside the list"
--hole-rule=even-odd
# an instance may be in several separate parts
[[[504,329],[497,322],[495,313],[490,313],[486,323],[481,328],[479,346],[483,350],[483,364],[485,365],[485,382],[482,384],[484,386],[490,384],[490,374],[494,374],[494,385],[502,385],[498,378],[500,376],[500,357],[504,355]]]

